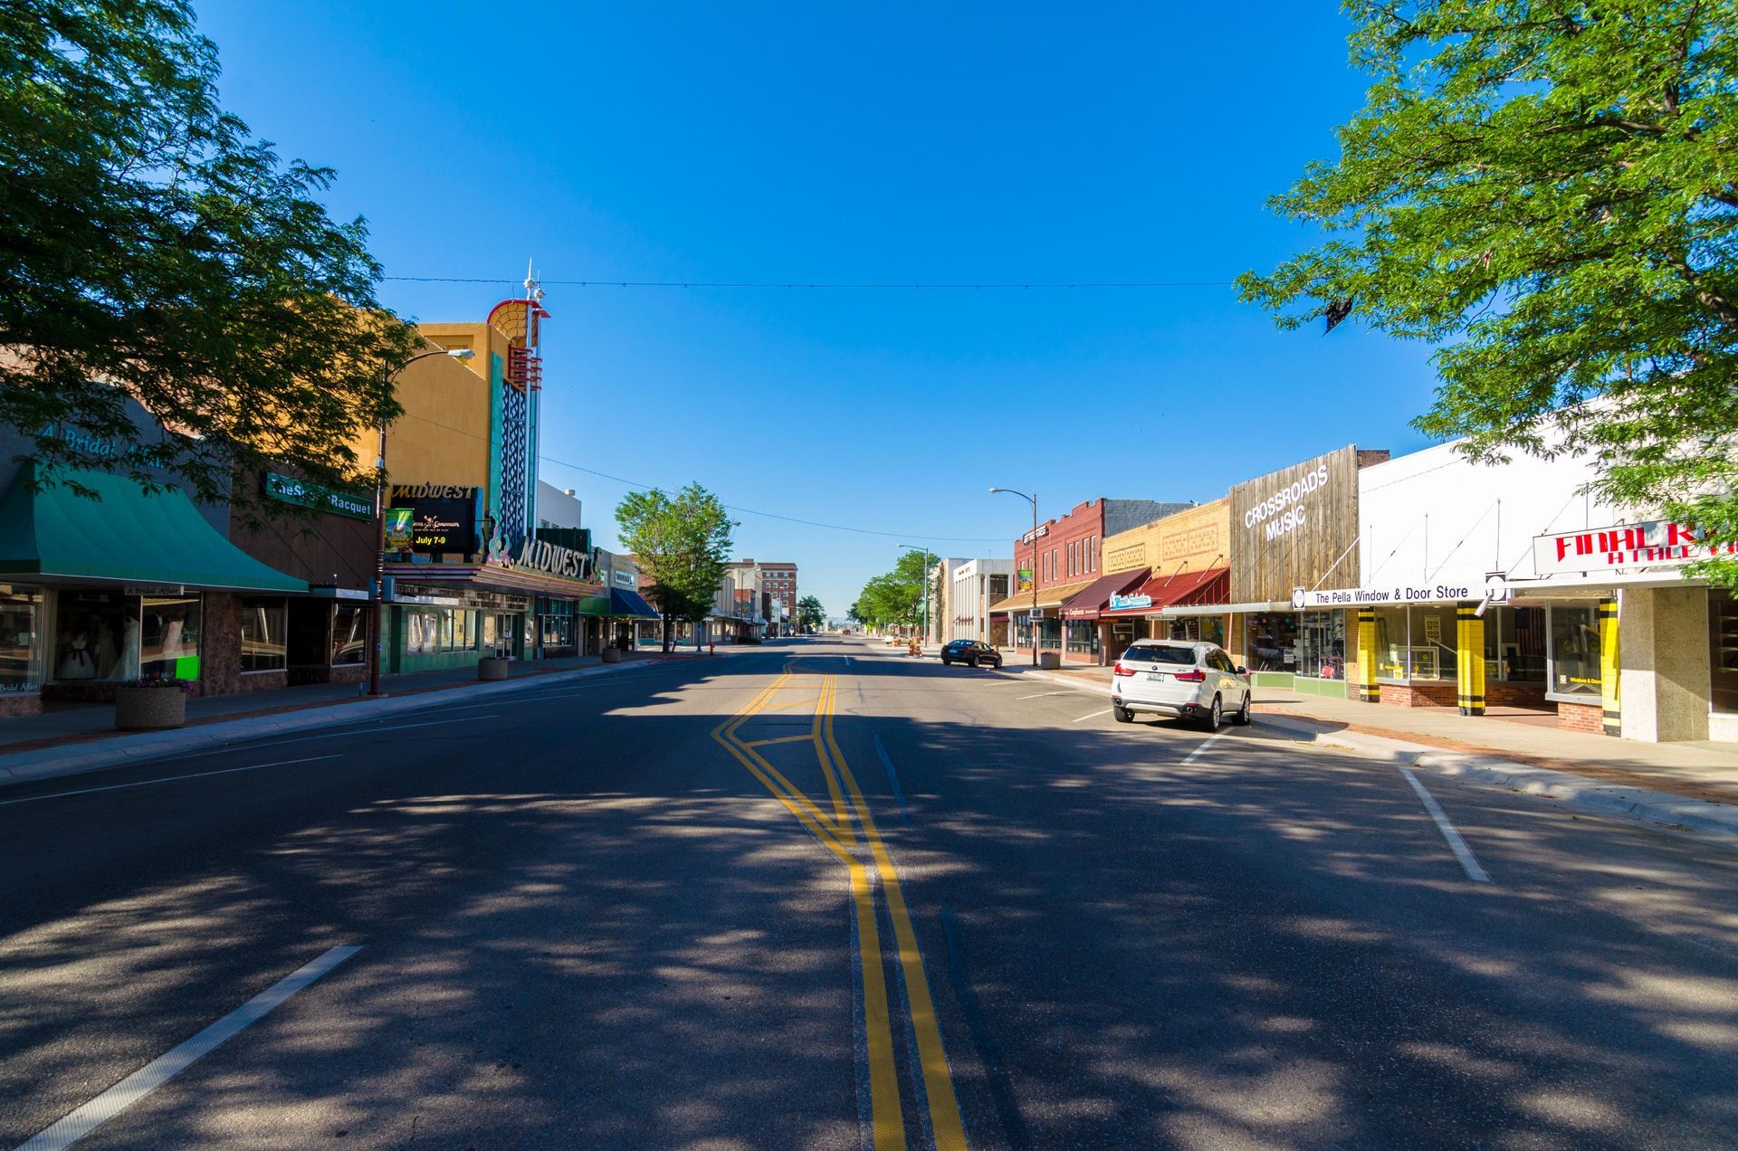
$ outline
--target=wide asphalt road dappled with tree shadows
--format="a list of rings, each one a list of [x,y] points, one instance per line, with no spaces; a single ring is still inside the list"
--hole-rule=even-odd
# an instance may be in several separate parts
[[[1733,1146],[1738,855],[1418,786],[799,640],[5,788],[0,1146]]]

